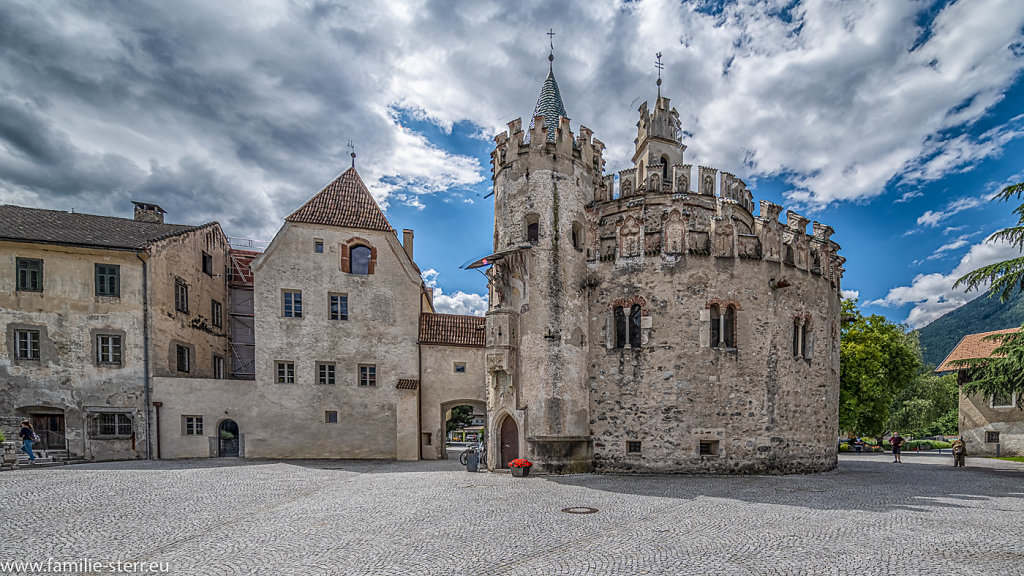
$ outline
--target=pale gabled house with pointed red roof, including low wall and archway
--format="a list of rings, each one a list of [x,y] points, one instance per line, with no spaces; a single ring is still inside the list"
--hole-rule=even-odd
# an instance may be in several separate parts
[[[444,413],[483,408],[484,320],[434,313],[413,238],[398,241],[352,167],[264,252],[232,251],[253,381],[157,378],[161,456],[445,457]]]

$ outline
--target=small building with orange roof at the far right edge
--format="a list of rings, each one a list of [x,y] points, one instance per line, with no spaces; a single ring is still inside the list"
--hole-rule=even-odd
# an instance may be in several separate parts
[[[989,358],[999,342],[986,336],[1016,332],[1019,328],[994,330],[964,336],[937,373],[956,372],[956,383],[971,381],[971,371],[956,366],[958,360]],[[1024,456],[1024,410],[1017,395],[959,395],[959,434],[967,442],[968,455]]]

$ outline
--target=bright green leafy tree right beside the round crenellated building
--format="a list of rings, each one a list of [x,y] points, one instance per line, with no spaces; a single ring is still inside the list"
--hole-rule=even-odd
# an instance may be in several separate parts
[[[843,301],[840,348],[840,428],[881,438],[897,396],[916,377],[921,346],[914,332],[884,317],[865,317]]]

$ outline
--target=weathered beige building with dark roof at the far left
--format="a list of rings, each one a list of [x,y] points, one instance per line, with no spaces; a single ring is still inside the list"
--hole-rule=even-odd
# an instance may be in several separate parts
[[[0,414],[37,448],[148,455],[152,376],[224,377],[227,242],[220,225],[0,206]]]

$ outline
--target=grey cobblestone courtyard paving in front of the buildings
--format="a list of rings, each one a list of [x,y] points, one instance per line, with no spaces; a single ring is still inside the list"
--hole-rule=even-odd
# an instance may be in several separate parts
[[[1024,574],[1024,464],[978,458],[526,479],[457,460],[118,462],[4,472],[0,490],[0,573]]]

